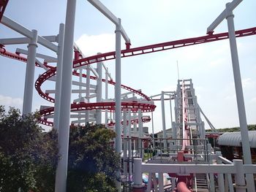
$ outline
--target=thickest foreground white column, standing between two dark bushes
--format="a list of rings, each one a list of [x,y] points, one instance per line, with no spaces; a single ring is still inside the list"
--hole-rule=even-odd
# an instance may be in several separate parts
[[[69,120],[72,82],[72,50],[74,44],[75,26],[75,5],[76,0],[67,1],[58,134],[60,158],[56,170],[56,192],[66,192],[67,187],[67,160],[69,147]]]

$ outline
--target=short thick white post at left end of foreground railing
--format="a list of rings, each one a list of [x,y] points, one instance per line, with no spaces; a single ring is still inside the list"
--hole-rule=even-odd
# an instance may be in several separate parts
[[[133,160],[134,164],[134,173],[133,173],[133,183],[132,183],[132,192],[143,192],[145,191],[145,184],[142,183],[142,159],[135,158]]]

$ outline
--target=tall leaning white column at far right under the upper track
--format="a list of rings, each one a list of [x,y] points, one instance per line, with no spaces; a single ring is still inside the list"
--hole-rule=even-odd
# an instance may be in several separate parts
[[[246,112],[244,106],[244,94],[241,83],[241,73],[239,67],[238,60],[238,50],[236,46],[236,34],[235,34],[235,26],[234,26],[234,15],[232,9],[229,7],[230,3],[226,4],[227,10],[227,27],[228,27],[228,36],[230,40],[230,52],[231,59],[233,65],[233,75],[236,87],[236,102],[238,106],[238,116],[241,130],[241,139],[242,139],[242,149],[244,154],[244,164],[252,164],[252,155],[249,146],[249,136],[248,136],[248,128],[246,122]],[[248,191],[255,191],[255,182],[253,179],[253,174],[246,174],[246,181],[248,185]]]

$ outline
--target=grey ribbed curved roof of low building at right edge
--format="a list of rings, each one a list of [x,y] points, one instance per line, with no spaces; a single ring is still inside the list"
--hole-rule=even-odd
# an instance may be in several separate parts
[[[248,131],[249,145],[256,148],[256,131]],[[217,140],[218,145],[241,146],[241,132],[230,132],[222,134]]]

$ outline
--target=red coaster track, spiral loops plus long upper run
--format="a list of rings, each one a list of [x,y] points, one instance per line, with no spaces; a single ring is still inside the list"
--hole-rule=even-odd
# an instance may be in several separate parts
[[[236,37],[246,37],[250,35],[255,35],[256,34],[256,27],[254,28],[247,28],[243,30],[236,31]],[[198,45],[206,42],[214,42],[214,41],[219,41],[222,39],[227,39],[228,34],[227,33],[221,33],[221,34],[208,34],[203,37],[195,37],[195,38],[189,38],[189,39],[180,39],[172,42],[164,42],[164,43],[159,43],[159,44],[154,44],[154,45],[147,45],[143,47],[135,47],[131,49],[126,49],[126,50],[121,50],[121,57],[129,57],[129,56],[135,56],[135,55],[142,55],[146,53],[154,53],[154,52],[159,52],[162,50],[170,50],[178,47],[186,47],[190,45]],[[75,50],[75,54],[78,55],[78,50]],[[3,55],[8,58],[16,59],[18,61],[23,61],[26,62],[26,58],[23,58],[22,56],[16,54],[16,53],[10,53],[7,52],[3,47],[0,47],[0,55]],[[94,64],[98,61],[108,61],[111,59],[115,58],[116,53],[115,52],[110,52],[110,53],[102,53],[99,55],[93,55],[87,58],[80,58],[76,59],[73,61],[73,68],[78,68],[80,66],[85,66],[88,64]],[[75,58],[79,58],[79,56],[76,56]],[[36,63],[37,66],[39,64]],[[44,93],[41,89],[41,85],[45,80],[48,80],[50,77],[53,77],[56,74],[56,67],[53,66],[48,66],[45,64],[45,66],[48,67],[48,71],[45,72],[44,74],[40,75],[37,81],[35,82],[35,88],[37,89],[37,92],[39,93],[42,98],[54,102],[54,99],[48,94]],[[72,72],[73,75],[78,76],[79,73],[74,71]],[[86,77],[86,74],[83,74],[83,77]],[[90,77],[93,80],[96,80],[97,77]],[[102,79],[103,82],[105,82],[104,79]],[[115,85],[115,82],[112,80],[108,80],[108,83]],[[139,96],[142,96],[144,99],[147,101],[150,101],[148,96],[146,96],[144,93],[141,93],[140,91],[136,91],[133,88],[129,88],[125,85],[121,85],[122,88],[126,89],[127,91],[132,91],[134,93],[137,93]],[[71,105],[71,110],[72,111],[79,111],[79,110],[110,110],[114,111],[115,110],[115,103],[114,102],[102,102],[102,103],[90,103],[90,104],[72,104]],[[145,108],[144,108],[145,107]],[[46,110],[42,110],[40,113],[42,115],[49,115],[53,113],[53,107],[50,107]],[[132,109],[133,111],[137,111],[138,109],[143,110],[143,112],[151,112],[154,111],[155,105],[154,104],[143,104],[143,103],[138,103],[138,102],[122,102],[122,109]],[[46,123],[47,124],[47,123]],[[50,123],[50,125],[52,125]]]

